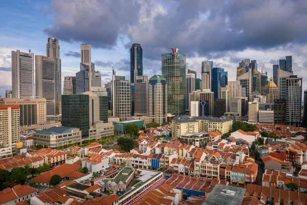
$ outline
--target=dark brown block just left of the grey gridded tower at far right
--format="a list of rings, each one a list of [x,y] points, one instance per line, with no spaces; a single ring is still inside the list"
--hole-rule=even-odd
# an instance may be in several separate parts
[[[287,123],[287,103],[286,99],[274,100],[274,124],[286,125]]]

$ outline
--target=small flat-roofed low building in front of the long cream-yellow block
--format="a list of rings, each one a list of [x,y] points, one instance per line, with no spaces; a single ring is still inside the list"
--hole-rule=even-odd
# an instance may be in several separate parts
[[[196,148],[204,148],[210,141],[210,137],[207,133],[189,132],[184,133],[180,137],[181,144],[193,145]]]

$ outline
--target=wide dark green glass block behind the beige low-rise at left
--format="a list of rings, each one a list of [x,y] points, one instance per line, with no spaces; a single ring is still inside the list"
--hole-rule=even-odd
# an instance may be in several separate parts
[[[89,95],[62,95],[62,126],[79,128],[82,131],[82,139],[89,137]]]

